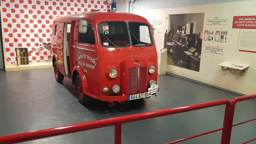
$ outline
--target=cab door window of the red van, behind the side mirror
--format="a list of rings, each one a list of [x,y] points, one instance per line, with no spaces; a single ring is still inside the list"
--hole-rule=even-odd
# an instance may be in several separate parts
[[[95,44],[95,37],[92,25],[88,24],[86,33],[79,32],[79,43]]]

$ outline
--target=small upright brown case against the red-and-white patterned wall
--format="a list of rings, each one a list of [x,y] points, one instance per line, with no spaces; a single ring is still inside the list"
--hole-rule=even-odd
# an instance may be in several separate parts
[[[29,64],[28,48],[17,48],[15,51],[17,56],[17,66],[21,64]]]

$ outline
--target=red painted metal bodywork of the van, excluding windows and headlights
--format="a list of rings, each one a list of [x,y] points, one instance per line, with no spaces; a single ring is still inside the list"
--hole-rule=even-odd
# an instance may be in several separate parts
[[[79,43],[80,20],[87,20],[88,24],[92,25],[95,29],[95,45]],[[121,47],[121,50],[116,48],[105,48],[100,44],[98,32],[99,24],[104,21],[146,23],[150,28],[150,32],[152,33],[153,45],[143,46],[144,49],[138,46],[133,46],[132,44],[128,47]],[[55,24],[57,23],[58,36],[54,37]],[[73,77],[73,73],[77,71],[74,68],[76,66],[80,66],[81,71],[83,72],[83,75],[85,77],[84,79],[81,79],[82,84],[87,83],[87,86],[83,86],[84,94],[87,94],[93,98],[97,98],[101,101],[127,101],[128,95],[147,92],[149,81],[157,81],[157,52],[154,43],[153,31],[150,24],[144,17],[138,16],[136,14],[121,12],[87,12],[82,14],[71,14],[56,17],[55,20],[53,20],[52,25],[52,50],[53,53],[57,56],[57,58],[55,57],[55,59],[58,62],[58,69],[63,75],[66,75],[66,72],[64,68],[65,63],[63,60],[63,46],[61,47],[60,45],[61,42],[64,41],[63,26],[65,26],[65,23],[71,23],[69,46],[71,75]],[[87,51],[83,49],[87,49]],[[138,57],[128,57],[135,55]],[[97,58],[98,61],[91,60]],[[135,60],[138,60],[139,62],[135,62]],[[94,69],[89,69],[86,66],[83,66],[83,63],[90,65],[94,64]],[[145,73],[143,71],[144,73],[141,77],[144,77],[141,80],[143,81],[143,83],[139,84],[139,89],[128,93],[128,68],[131,68],[131,66],[133,66],[134,68],[134,66],[136,67],[137,64],[140,64],[140,67],[145,67],[145,69],[148,69],[149,65],[154,65],[156,67],[156,70],[153,74],[150,74],[149,72]],[[114,79],[108,76],[108,70],[110,68],[115,68],[118,71],[118,75]],[[78,73],[79,75],[81,74],[80,72]],[[120,92],[117,94],[113,93],[112,91],[112,87],[116,84],[120,86]],[[132,86],[136,88],[138,87],[138,84],[133,84]],[[102,89],[105,87],[109,89],[109,91],[106,93],[102,91]],[[129,89],[132,88],[130,87]]]

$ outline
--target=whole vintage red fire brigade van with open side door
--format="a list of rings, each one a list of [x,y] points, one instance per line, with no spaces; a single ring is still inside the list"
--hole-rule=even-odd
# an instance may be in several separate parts
[[[86,12],[52,23],[56,81],[76,85],[81,104],[135,100],[159,92],[152,26],[136,14]]]

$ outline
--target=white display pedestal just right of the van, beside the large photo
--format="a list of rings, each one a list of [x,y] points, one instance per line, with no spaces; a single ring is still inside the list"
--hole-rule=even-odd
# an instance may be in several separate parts
[[[166,74],[167,49],[157,52],[157,74]]]

